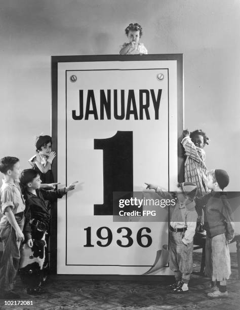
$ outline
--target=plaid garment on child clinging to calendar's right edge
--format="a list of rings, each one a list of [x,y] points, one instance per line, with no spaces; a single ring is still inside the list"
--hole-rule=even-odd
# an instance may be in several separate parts
[[[197,147],[189,136],[181,141],[186,155],[184,180],[197,186],[197,197],[203,196],[207,187],[207,167],[205,165],[206,154],[203,148]]]

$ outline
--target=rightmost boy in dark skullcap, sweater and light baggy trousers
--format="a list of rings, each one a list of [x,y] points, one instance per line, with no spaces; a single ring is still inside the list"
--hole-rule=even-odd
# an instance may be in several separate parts
[[[196,208],[204,209],[206,236],[206,275],[211,278],[209,297],[228,297],[226,280],[231,274],[228,243],[234,238],[234,223],[230,204],[223,189],[229,183],[225,170],[215,169],[208,173],[210,193],[195,198]],[[215,284],[216,282],[216,284]]]

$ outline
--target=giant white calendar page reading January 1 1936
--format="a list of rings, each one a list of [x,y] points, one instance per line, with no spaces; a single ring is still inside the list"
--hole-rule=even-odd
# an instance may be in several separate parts
[[[58,62],[57,178],[62,184],[78,181],[58,200],[58,274],[171,274],[169,207],[158,207],[155,216],[141,211],[137,220],[131,206],[130,213],[113,216],[118,193],[152,197],[145,182],[168,191],[178,179],[182,81],[176,60],[148,56]]]

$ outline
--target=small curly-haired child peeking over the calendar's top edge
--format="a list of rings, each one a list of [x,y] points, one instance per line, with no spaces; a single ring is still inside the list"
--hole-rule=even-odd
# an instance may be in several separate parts
[[[120,55],[142,55],[147,54],[147,49],[140,43],[139,40],[142,36],[142,26],[138,23],[131,23],[125,29],[129,43],[121,45]]]

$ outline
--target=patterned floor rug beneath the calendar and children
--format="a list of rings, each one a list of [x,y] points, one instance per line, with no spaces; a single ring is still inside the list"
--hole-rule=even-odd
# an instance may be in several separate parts
[[[201,253],[193,253],[193,269],[198,272],[201,264]],[[231,265],[236,266],[236,254],[231,253]],[[54,280],[49,281],[49,293],[33,297],[17,278],[16,291],[22,300],[30,300],[33,305],[5,305],[0,300],[0,309],[18,310],[133,310],[133,309],[240,309],[240,281],[236,269],[232,269],[228,280],[228,298],[210,299],[209,281],[202,276],[192,275],[190,291],[185,294],[172,293],[168,285],[172,277],[164,277],[159,282],[149,281],[101,281],[101,280]]]

